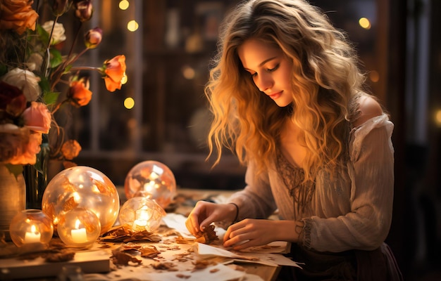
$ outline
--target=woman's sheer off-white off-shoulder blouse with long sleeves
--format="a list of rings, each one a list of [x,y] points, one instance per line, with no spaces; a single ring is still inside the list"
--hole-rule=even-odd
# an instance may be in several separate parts
[[[376,249],[387,237],[392,221],[393,128],[383,114],[352,129],[346,169],[333,176],[320,173],[303,209],[290,195],[276,169],[276,161],[256,179],[254,165],[250,164],[245,176],[247,186],[232,195],[229,202],[239,207],[240,220],[268,218],[278,210],[281,219],[304,221],[303,240],[299,244],[307,249]]]

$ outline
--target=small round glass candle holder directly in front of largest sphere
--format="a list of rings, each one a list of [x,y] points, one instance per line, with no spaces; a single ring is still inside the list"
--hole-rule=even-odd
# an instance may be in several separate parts
[[[57,232],[69,247],[91,247],[99,237],[101,226],[98,216],[85,208],[74,208],[60,216]]]

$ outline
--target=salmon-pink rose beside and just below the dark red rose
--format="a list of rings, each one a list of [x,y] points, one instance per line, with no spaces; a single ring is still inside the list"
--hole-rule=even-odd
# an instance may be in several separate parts
[[[25,119],[25,125],[30,130],[39,133],[49,133],[52,116],[44,103],[33,101],[30,107],[27,107],[23,112],[22,116]]]

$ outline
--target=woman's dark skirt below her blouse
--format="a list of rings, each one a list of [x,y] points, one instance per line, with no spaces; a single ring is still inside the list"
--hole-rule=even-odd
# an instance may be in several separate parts
[[[277,280],[403,280],[397,261],[385,243],[373,251],[352,250],[340,253],[309,251],[292,244],[288,256],[300,263],[302,269],[282,267]]]

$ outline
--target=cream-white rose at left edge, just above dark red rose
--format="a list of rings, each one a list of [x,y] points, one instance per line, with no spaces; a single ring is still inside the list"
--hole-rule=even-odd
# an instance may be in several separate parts
[[[35,76],[34,72],[14,68],[0,79],[23,91],[27,101],[37,100],[40,93],[42,93],[42,89],[38,84],[40,77]]]

